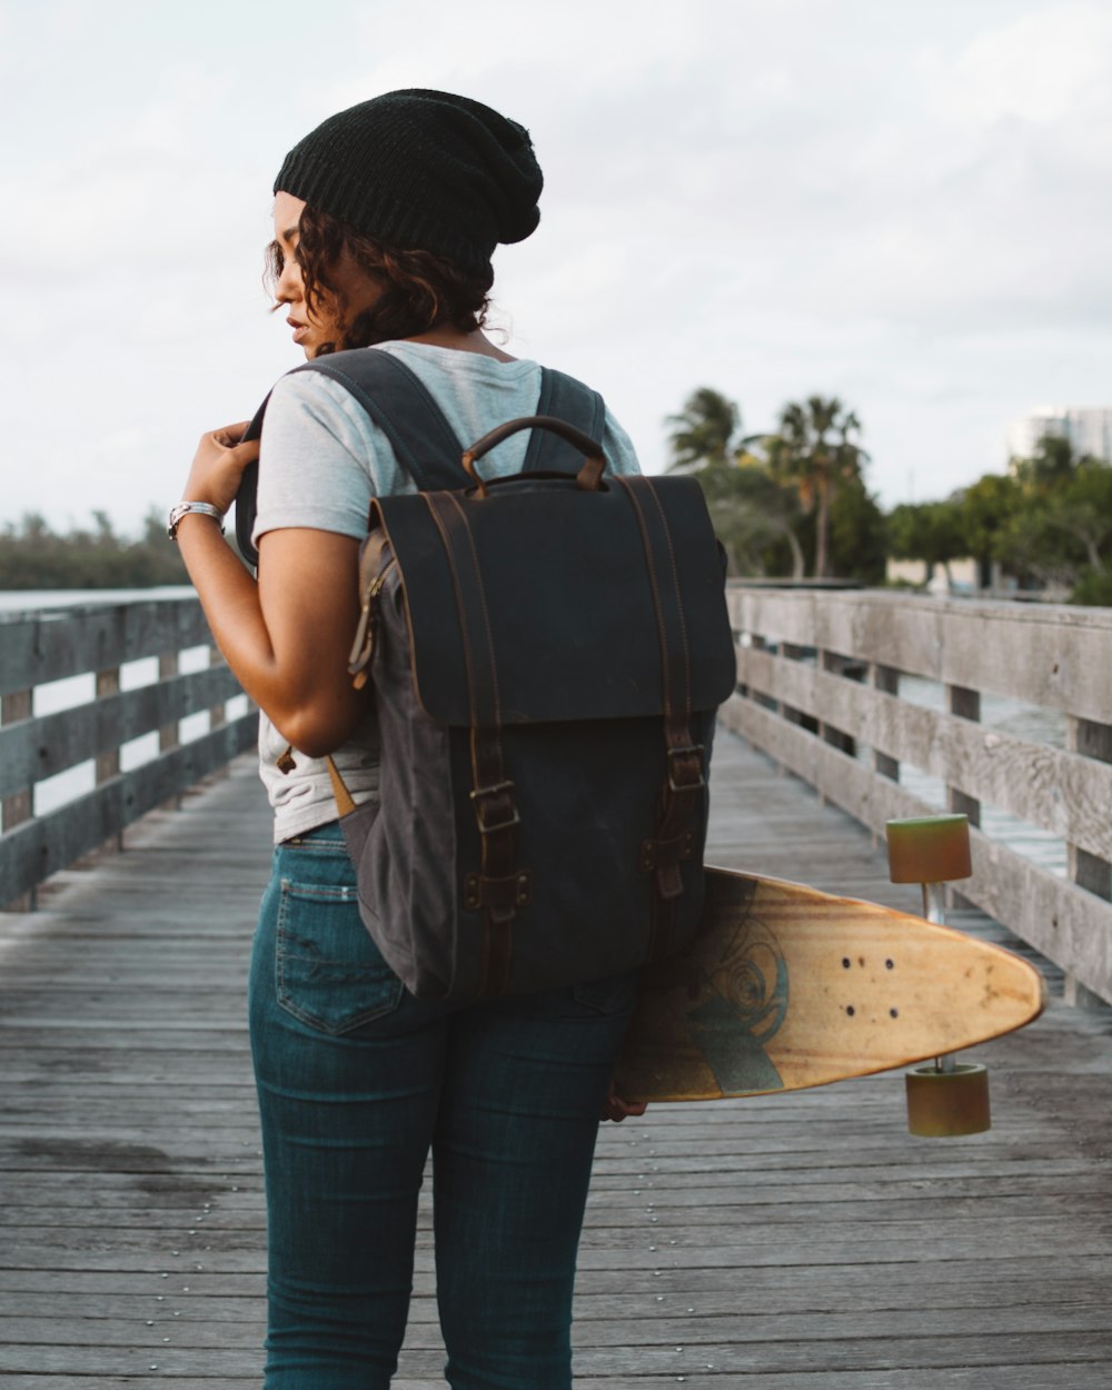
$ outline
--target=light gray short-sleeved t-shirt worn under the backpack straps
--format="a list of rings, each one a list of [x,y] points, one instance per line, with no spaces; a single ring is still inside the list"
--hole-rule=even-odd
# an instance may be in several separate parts
[[[395,342],[366,352],[388,352],[410,367],[431,392],[461,443],[517,416],[537,413],[541,367],[535,361],[498,361],[481,353]],[[603,452],[614,473],[638,473],[624,430],[609,414]],[[528,434],[513,435],[482,460],[485,473],[518,473]],[[416,492],[389,441],[343,386],[317,371],[302,371],[275,385],[263,425],[259,467],[259,518],[254,539],[284,527],[336,531],[361,539],[367,509],[377,495]],[[291,773],[278,769],[286,739],[265,713],[259,721],[260,774],[274,808],[274,838],[289,840],[335,820],[336,805],[322,759],[295,752]],[[370,714],[334,760],[357,803],[378,791],[378,731]]]

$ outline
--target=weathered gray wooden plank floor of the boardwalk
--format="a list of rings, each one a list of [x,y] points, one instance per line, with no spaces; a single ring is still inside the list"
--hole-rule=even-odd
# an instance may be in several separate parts
[[[915,906],[865,831],[733,735],[708,858]],[[243,977],[249,759],[0,917],[0,1386],[257,1386],[264,1216]],[[965,924],[992,931],[970,913]],[[994,1063],[995,1127],[905,1131],[902,1080],[603,1126],[580,1390],[1104,1390],[1112,1011]],[[442,1384],[423,1212],[395,1384]]]

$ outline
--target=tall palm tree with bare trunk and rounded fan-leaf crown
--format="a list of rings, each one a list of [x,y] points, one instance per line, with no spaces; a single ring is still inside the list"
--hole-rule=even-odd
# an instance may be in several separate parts
[[[815,512],[815,577],[830,569],[830,503],[841,482],[859,482],[869,455],[851,435],[860,421],[837,396],[790,400],[780,411],[780,428],[764,436],[769,470],[791,482],[808,512]]]

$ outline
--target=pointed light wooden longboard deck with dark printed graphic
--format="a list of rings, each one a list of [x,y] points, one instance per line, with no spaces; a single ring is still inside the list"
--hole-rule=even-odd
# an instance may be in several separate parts
[[[1044,1005],[1040,973],[1002,947],[708,869],[699,933],[644,972],[614,1083],[631,1101],[826,1086],[1011,1033]]]

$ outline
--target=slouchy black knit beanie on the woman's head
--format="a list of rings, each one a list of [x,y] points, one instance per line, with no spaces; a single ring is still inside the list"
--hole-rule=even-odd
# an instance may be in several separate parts
[[[274,181],[374,240],[491,274],[499,242],[541,220],[528,131],[481,101],[413,88],[339,111],[293,146]]]

